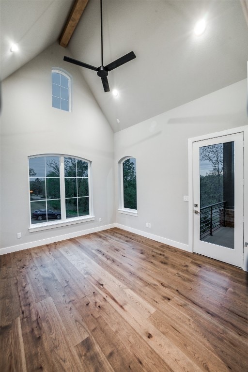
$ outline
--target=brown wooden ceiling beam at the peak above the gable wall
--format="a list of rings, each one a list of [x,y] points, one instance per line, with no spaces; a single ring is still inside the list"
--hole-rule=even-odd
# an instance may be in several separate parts
[[[75,0],[71,13],[67,19],[67,22],[64,26],[64,29],[60,37],[60,45],[62,47],[64,48],[67,47],[70,38],[72,37],[72,34],[77,27],[78,21],[81,15],[83,14],[83,11],[88,1],[89,0]]]

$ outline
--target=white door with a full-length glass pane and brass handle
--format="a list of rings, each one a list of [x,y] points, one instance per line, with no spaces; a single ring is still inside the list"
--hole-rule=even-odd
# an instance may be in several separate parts
[[[243,133],[193,143],[193,250],[243,266]]]

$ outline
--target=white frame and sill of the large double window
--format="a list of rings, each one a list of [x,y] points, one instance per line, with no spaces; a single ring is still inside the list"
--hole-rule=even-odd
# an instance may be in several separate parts
[[[48,220],[46,222],[40,222],[37,224],[31,224],[31,203],[30,203],[30,176],[29,176],[29,159],[44,156],[59,156],[60,157],[60,200],[61,200],[61,219],[59,220]],[[66,218],[65,211],[65,183],[64,183],[64,158],[72,157],[74,159],[82,160],[88,163],[88,184],[89,184],[89,215]],[[31,155],[28,157],[28,180],[29,180],[29,212],[30,212],[30,227],[29,232],[42,231],[47,229],[52,229],[61,226],[72,225],[81,222],[93,221],[95,219],[93,215],[93,197],[92,197],[92,181],[91,181],[91,169],[92,162],[90,160],[73,156],[73,155],[62,155],[62,154],[41,154],[41,155]]]

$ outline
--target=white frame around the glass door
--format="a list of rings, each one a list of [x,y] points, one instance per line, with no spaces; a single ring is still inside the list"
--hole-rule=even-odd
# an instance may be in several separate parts
[[[248,242],[248,125],[188,139],[188,248],[193,252],[193,142],[244,133],[244,243]],[[248,247],[244,247],[243,270],[248,271]]]

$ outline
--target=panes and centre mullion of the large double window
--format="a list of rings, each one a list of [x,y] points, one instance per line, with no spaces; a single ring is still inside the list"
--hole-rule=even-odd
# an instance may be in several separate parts
[[[90,162],[73,156],[29,158],[31,225],[90,217]]]

